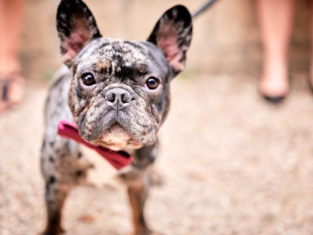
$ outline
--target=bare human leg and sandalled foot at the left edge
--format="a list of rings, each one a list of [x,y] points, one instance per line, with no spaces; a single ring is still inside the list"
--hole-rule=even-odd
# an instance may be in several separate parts
[[[0,0],[0,113],[22,100],[19,42],[24,0]]]

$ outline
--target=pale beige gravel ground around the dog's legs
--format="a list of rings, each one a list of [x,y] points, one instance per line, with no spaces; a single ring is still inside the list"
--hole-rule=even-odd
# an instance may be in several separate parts
[[[293,75],[279,107],[263,101],[252,75],[182,74],[160,131],[156,170],[164,184],[147,202],[149,224],[166,235],[313,234],[313,96]],[[0,234],[44,227],[39,151],[46,85],[30,81],[22,105],[0,117]],[[112,171],[112,169],[110,169]],[[132,230],[125,188],[78,187],[66,202],[68,235]]]

